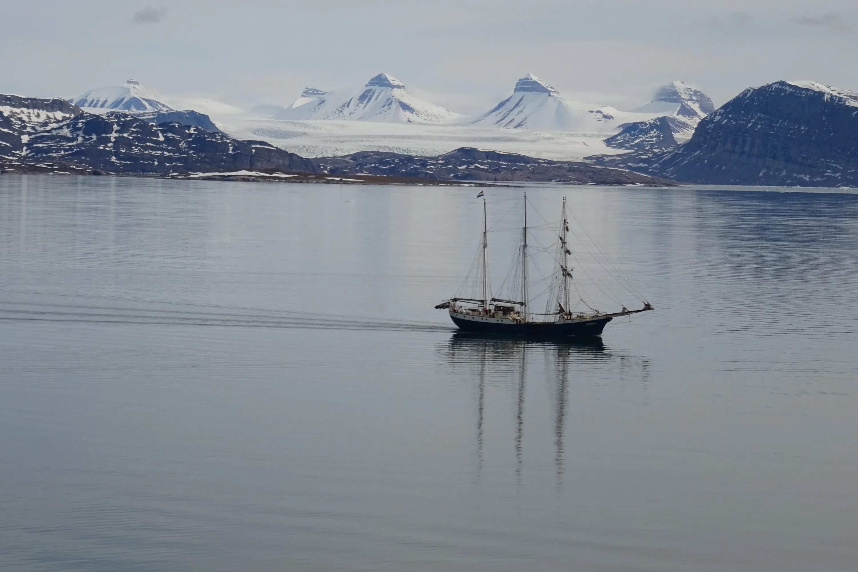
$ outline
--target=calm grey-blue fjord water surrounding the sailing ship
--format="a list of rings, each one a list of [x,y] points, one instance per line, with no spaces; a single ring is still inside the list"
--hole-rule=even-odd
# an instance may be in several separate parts
[[[858,196],[529,189],[656,305],[580,346],[432,310],[475,194],[0,178],[0,568],[858,568]]]

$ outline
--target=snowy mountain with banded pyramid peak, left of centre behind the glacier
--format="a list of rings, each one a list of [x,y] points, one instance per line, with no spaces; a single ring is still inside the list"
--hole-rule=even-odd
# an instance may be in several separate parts
[[[405,84],[387,74],[378,74],[360,91],[348,94],[323,92],[307,87],[292,105],[276,116],[293,121],[349,120],[385,123],[450,123],[459,117],[425,99],[414,97]]]

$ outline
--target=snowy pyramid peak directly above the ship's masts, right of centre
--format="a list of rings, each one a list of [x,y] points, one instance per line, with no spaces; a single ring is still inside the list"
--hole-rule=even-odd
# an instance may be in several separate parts
[[[469,123],[505,129],[613,133],[619,123],[635,118],[609,105],[565,99],[545,81],[528,74],[516,82],[510,97]]]

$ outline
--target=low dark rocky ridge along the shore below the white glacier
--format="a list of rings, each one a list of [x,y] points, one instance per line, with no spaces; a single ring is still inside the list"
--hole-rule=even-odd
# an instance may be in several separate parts
[[[465,181],[545,181],[577,184],[670,184],[627,171],[579,161],[535,159],[526,155],[458,148],[433,157],[365,151],[313,160],[332,175],[387,175]]]

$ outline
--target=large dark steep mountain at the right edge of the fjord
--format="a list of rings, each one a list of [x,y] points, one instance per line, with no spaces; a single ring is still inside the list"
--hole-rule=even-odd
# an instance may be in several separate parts
[[[858,93],[776,81],[722,105],[677,148],[595,159],[687,183],[858,186]]]

